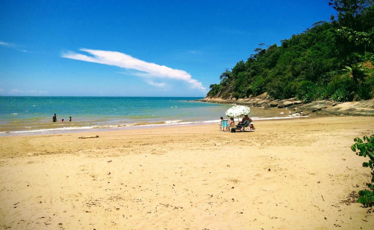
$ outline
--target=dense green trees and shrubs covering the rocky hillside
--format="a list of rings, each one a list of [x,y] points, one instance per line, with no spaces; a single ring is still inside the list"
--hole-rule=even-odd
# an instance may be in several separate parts
[[[267,92],[270,98],[296,96],[303,101],[349,101],[373,97],[374,0],[329,0],[337,11],[303,33],[264,43],[209,86],[207,96],[221,93],[245,98]]]

